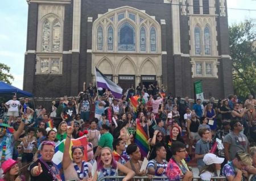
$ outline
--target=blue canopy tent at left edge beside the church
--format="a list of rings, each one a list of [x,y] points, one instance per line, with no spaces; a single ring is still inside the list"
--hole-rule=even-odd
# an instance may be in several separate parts
[[[0,96],[10,96],[12,94],[16,94],[18,97],[33,96],[30,92],[20,90],[17,87],[11,86],[8,83],[0,81]]]

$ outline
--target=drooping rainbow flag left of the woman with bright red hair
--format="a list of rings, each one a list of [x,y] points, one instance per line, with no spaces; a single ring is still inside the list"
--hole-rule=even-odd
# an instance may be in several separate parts
[[[144,132],[139,121],[137,121],[135,144],[137,144],[139,149],[141,150],[142,157],[147,157],[148,151],[150,150],[150,146],[148,143],[147,134]]]

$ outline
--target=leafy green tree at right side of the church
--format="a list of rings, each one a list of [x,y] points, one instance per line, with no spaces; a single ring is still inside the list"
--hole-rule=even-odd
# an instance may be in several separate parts
[[[256,93],[256,33],[250,20],[229,27],[234,92],[247,98]]]

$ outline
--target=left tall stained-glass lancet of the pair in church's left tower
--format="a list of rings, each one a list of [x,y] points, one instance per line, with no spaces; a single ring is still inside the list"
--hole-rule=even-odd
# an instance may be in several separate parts
[[[49,52],[51,23],[46,19],[43,23],[42,52]]]

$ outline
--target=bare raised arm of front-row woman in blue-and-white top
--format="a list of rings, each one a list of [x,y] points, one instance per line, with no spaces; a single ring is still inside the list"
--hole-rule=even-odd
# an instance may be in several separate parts
[[[67,138],[65,141],[64,154],[63,154],[63,160],[62,160],[63,170],[66,170],[72,162],[69,155],[69,148],[71,144],[71,137],[72,137],[73,130],[74,130],[73,124],[71,125],[71,127],[67,128]]]

